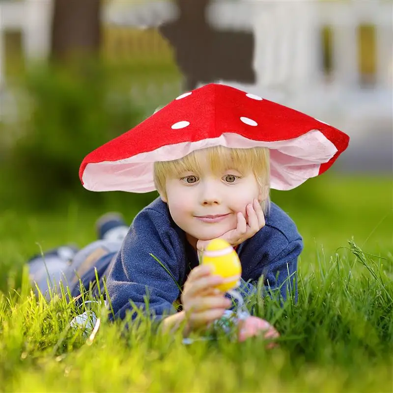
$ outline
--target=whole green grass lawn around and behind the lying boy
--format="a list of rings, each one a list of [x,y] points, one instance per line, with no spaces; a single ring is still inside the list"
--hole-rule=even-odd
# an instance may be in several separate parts
[[[36,300],[21,268],[39,251],[36,243],[47,249],[93,240],[102,211],[75,203],[48,213],[3,211],[0,390],[391,392],[392,181],[322,176],[272,197],[305,240],[299,302],[258,303],[257,314],[281,333],[274,350],[259,338],[185,346],[179,335],[154,334],[143,321],[124,334],[124,322],[107,323],[98,307],[103,322],[86,341],[69,328],[83,309]],[[120,210],[130,219],[136,213],[132,206]]]

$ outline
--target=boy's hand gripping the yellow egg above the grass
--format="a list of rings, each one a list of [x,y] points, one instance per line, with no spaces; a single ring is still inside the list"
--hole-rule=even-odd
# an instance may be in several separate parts
[[[191,271],[181,295],[187,331],[207,327],[231,306],[230,299],[215,288],[223,281],[222,277],[212,275],[210,266],[200,265]]]

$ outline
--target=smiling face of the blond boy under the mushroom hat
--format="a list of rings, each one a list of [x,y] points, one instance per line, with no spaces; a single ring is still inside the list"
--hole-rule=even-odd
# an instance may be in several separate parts
[[[263,197],[253,172],[228,169],[216,174],[207,158],[200,163],[199,173],[187,171],[178,177],[168,177],[167,198],[161,196],[168,203],[173,221],[186,232],[194,247],[197,240],[215,239],[235,229],[238,212],[247,221],[247,204]]]

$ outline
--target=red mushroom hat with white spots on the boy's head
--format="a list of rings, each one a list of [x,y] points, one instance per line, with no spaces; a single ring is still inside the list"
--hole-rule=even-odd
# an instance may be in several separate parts
[[[136,127],[89,153],[79,176],[91,191],[155,190],[156,161],[212,146],[267,147],[270,187],[290,190],[330,168],[349,137],[307,114],[225,84],[180,95]]]

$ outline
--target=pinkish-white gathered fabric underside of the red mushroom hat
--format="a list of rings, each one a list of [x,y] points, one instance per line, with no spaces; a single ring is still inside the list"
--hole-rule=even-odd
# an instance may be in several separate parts
[[[337,148],[320,131],[289,140],[256,141],[239,134],[225,133],[218,138],[180,142],[159,147],[118,161],[89,163],[84,169],[84,187],[91,191],[154,191],[153,164],[171,161],[212,146],[231,148],[268,147],[270,149],[270,187],[291,190],[319,174],[320,165],[328,162]]]

